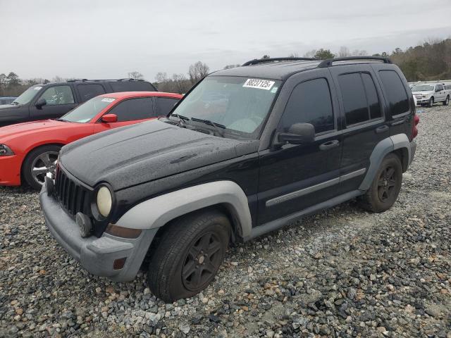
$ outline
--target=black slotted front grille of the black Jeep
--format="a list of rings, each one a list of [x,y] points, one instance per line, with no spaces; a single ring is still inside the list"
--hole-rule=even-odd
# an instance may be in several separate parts
[[[56,170],[55,196],[59,204],[70,214],[75,216],[79,211],[89,215],[90,191],[82,184],[71,180],[67,173]]]

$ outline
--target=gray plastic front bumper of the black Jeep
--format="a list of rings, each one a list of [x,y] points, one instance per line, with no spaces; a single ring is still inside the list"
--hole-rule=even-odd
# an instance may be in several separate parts
[[[75,220],[61,208],[56,199],[47,196],[46,184],[39,194],[39,201],[53,237],[89,273],[109,277],[116,282],[127,282],[135,278],[158,229],[143,230],[136,239],[106,233],[100,238],[82,238]],[[115,270],[113,263],[121,258],[126,258],[125,265]]]

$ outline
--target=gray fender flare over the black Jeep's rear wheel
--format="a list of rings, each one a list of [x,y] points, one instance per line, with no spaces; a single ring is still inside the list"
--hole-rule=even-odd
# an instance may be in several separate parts
[[[412,161],[412,152],[410,149],[409,138],[406,134],[396,134],[386,139],[383,139],[381,142],[376,144],[369,158],[370,165],[368,171],[366,172],[365,178],[359,186],[359,190],[366,191],[371,186],[371,182],[373,182],[374,177],[376,176],[376,172],[378,168],[381,166],[383,158],[387,156],[387,154],[395,151],[397,149],[407,149],[407,154],[409,156],[408,162]]]

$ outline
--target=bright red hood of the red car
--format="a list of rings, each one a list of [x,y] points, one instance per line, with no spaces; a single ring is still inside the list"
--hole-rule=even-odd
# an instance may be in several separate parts
[[[22,136],[30,137],[32,134],[39,134],[44,131],[59,130],[61,132],[65,126],[73,127],[74,124],[78,125],[78,123],[42,120],[18,123],[17,125],[7,125],[6,127],[0,127],[0,143],[10,139],[17,139]]]

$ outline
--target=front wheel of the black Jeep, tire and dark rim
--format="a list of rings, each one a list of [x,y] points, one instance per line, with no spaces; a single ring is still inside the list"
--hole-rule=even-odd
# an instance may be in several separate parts
[[[226,256],[230,222],[210,210],[192,213],[166,225],[151,252],[147,281],[166,302],[198,294],[214,279]]]

